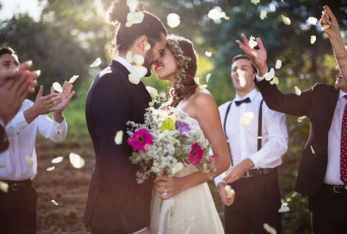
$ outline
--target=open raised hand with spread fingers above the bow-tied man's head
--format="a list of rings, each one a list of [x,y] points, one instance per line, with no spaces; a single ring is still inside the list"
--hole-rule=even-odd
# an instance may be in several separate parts
[[[255,67],[258,69],[259,75],[263,76],[268,70],[268,66],[266,64],[267,54],[266,54],[266,50],[264,48],[263,42],[258,37],[257,43],[258,43],[259,50],[255,50],[249,46],[248,39],[246,38],[246,35],[244,35],[242,33],[241,37],[242,37],[243,43],[239,40],[236,40],[236,43],[238,44],[239,48],[253,62]],[[257,54],[257,56],[252,54],[252,52],[253,53],[255,52]]]

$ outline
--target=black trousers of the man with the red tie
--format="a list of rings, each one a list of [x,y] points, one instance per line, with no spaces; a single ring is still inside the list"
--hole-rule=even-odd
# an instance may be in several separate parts
[[[314,234],[347,234],[347,193],[322,187],[308,198]]]

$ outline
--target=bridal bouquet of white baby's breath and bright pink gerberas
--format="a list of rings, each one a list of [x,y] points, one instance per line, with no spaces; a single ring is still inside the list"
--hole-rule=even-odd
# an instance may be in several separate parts
[[[130,160],[141,168],[136,173],[138,183],[153,175],[173,176],[189,164],[213,177],[215,157],[209,156],[210,144],[197,120],[188,114],[150,107],[143,124],[127,124],[127,142],[134,149]]]

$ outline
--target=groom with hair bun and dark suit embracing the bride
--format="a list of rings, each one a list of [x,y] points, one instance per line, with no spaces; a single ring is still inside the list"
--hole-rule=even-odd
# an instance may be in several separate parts
[[[86,101],[86,119],[96,154],[96,163],[88,193],[84,224],[93,234],[150,233],[152,181],[136,182],[139,168],[131,165],[132,149],[126,143],[127,121],[142,123],[151,97],[144,84],[130,83],[132,64],[126,54],[142,55],[151,75],[155,61],[160,61],[166,47],[167,31],[163,23],[144,12],[141,23],[126,27],[129,8],[124,1],[114,1],[109,10],[115,27],[117,56],[95,78]],[[145,42],[151,45],[145,50]],[[115,143],[117,131],[124,132],[123,143]]]

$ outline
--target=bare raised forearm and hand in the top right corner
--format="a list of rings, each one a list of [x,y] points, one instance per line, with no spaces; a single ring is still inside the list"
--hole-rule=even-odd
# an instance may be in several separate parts
[[[323,8],[324,10],[322,11],[320,25],[330,25],[330,27],[325,29],[324,32],[330,39],[336,62],[339,65],[342,76],[347,82],[347,50],[345,48],[344,40],[341,36],[339,22],[337,21],[329,6],[325,5]]]

